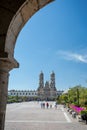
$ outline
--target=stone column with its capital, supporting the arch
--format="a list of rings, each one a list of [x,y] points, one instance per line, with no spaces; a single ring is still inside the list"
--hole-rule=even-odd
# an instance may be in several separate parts
[[[4,130],[9,71],[13,68],[15,68],[13,62],[8,59],[0,59],[0,130]]]

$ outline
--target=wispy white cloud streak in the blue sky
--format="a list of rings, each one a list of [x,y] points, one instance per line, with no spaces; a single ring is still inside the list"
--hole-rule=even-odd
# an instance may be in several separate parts
[[[58,51],[57,54],[64,58],[65,60],[72,60],[72,61],[79,61],[83,63],[87,63],[87,54],[82,55],[82,54],[77,54],[77,53],[72,53],[68,51]]]

